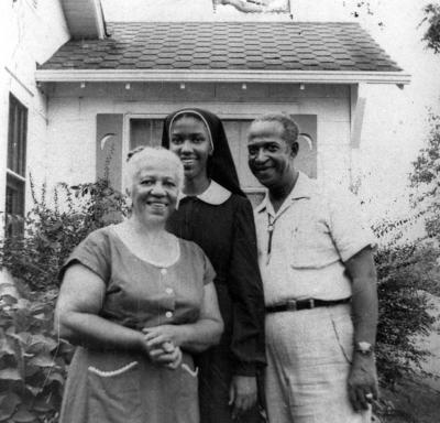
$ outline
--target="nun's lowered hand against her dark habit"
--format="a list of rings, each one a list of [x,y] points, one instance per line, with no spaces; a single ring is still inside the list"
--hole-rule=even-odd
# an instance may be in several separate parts
[[[229,405],[232,405],[232,419],[238,419],[255,403],[256,378],[254,376],[234,376],[229,388]]]

